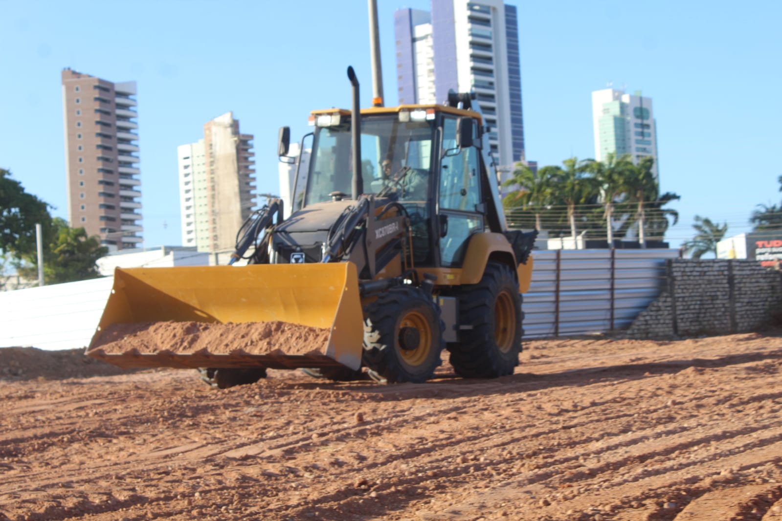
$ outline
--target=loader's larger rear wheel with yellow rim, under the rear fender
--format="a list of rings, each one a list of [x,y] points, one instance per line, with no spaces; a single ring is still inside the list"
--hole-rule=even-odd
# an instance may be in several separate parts
[[[511,268],[490,261],[479,284],[459,295],[460,341],[448,344],[450,365],[465,378],[497,378],[513,373],[522,351],[522,296]]]

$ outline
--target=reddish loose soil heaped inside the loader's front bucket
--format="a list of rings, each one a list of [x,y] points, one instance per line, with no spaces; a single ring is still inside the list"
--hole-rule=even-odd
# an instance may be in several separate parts
[[[193,353],[206,349],[214,355],[241,350],[264,355],[280,350],[286,355],[321,351],[328,329],[286,322],[203,323],[145,322],[112,324],[102,331],[96,346],[109,354],[131,350],[155,353]]]

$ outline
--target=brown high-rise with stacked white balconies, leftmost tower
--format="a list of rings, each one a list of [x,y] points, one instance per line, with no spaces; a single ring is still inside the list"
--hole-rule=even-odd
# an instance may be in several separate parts
[[[66,194],[71,227],[110,250],[143,239],[136,83],[112,83],[64,69]]]

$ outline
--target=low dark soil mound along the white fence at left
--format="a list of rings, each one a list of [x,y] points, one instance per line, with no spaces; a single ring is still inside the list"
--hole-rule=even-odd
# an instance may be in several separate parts
[[[127,372],[84,356],[84,349],[42,351],[36,348],[0,348],[0,380],[89,378]]]

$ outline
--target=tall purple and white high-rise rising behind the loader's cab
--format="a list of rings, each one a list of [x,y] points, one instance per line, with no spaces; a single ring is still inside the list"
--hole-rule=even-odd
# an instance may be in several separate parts
[[[400,104],[442,103],[475,91],[500,171],[525,159],[518,17],[501,0],[432,0],[394,13]]]

